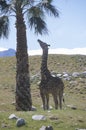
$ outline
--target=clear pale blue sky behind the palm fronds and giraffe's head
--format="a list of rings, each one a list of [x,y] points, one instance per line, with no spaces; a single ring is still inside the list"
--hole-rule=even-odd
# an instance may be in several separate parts
[[[35,35],[27,28],[28,50],[39,50],[37,39],[56,48],[86,48],[86,0],[53,0],[59,10],[59,18],[47,16],[48,35]],[[0,47],[16,49],[16,29],[11,20],[8,39],[0,39]]]

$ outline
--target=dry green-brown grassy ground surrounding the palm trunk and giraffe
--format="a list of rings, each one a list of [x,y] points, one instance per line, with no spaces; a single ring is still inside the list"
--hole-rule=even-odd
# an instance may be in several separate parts
[[[41,56],[31,56],[30,75],[40,71]],[[54,66],[54,67],[53,67]],[[82,55],[49,55],[48,68],[55,72],[83,72],[86,71],[86,56]],[[15,87],[16,87],[16,59],[15,57],[0,58],[0,130],[39,130],[43,125],[52,125],[54,130],[75,130],[76,128],[86,128],[86,79],[76,78],[75,86],[71,86],[69,81],[65,84],[65,104],[63,110],[55,110],[52,96],[50,95],[50,105],[53,109],[48,112],[41,108],[42,101],[39,94],[37,82],[31,83],[31,95],[33,105],[37,108],[34,112],[17,112],[15,110]],[[76,106],[73,110],[67,105]],[[10,114],[24,118],[26,125],[16,127],[16,120],[9,120]],[[34,121],[32,115],[43,114],[46,121]],[[5,124],[7,127],[2,128]]]

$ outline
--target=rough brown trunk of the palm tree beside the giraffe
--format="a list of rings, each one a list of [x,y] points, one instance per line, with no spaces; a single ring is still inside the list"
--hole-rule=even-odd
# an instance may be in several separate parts
[[[22,9],[16,6],[16,30],[17,30],[17,49],[16,49],[16,110],[31,110],[32,100],[30,93],[29,62],[27,53],[26,26],[23,18]]]

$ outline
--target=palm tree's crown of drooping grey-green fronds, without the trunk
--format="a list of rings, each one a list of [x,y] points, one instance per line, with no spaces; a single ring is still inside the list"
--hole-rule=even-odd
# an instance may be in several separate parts
[[[59,11],[52,5],[53,0],[1,0],[0,1],[0,37],[7,37],[9,30],[9,16],[16,15],[16,7],[21,7],[23,16],[26,15],[27,24],[35,33],[48,33],[45,13],[55,17],[59,16]],[[3,32],[4,31],[4,32]]]

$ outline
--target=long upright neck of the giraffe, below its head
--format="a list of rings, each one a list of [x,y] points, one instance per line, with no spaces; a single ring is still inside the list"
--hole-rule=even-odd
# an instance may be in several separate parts
[[[51,76],[50,71],[47,68],[47,59],[48,59],[48,49],[47,50],[44,49],[41,64],[41,78],[43,80],[47,80]]]

